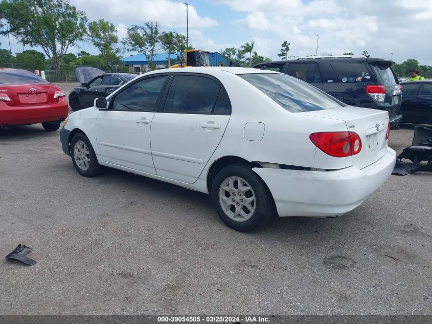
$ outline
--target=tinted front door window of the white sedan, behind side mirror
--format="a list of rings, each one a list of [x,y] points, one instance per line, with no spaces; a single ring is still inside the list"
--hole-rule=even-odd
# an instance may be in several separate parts
[[[111,109],[155,111],[167,79],[168,76],[158,76],[133,83],[114,98]]]

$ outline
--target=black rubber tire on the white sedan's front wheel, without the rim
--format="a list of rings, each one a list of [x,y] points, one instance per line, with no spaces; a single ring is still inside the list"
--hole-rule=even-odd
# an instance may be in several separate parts
[[[80,143],[77,144],[77,142],[81,141]],[[81,143],[84,143],[85,146],[87,147],[88,150],[88,154],[84,154],[83,153],[83,145],[80,145]],[[76,149],[76,144],[77,144],[77,149]],[[79,166],[75,160],[75,154],[80,154],[80,152],[78,152],[78,149],[81,149],[81,154],[82,156],[86,156],[87,159],[89,159],[88,167],[85,169],[84,165],[82,164],[81,166]],[[93,149],[92,144],[90,144],[90,141],[88,140],[88,138],[82,134],[82,133],[78,133],[76,134],[71,141],[71,157],[72,157],[72,163],[75,166],[75,169],[78,171],[78,173],[81,176],[84,177],[94,177],[97,176],[101,173],[102,171],[102,166],[98,163],[98,159],[96,158],[96,154],[95,154],[95,150]],[[77,159],[79,161],[81,161],[81,157],[77,157]]]

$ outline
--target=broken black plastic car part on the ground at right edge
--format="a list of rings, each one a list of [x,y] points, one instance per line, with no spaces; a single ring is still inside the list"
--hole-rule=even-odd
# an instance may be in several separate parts
[[[408,159],[412,162],[402,162]],[[421,162],[426,163],[421,163]],[[403,173],[405,171],[405,173]],[[410,147],[403,149],[397,157],[392,174],[404,176],[406,172],[432,171],[432,128],[414,127],[414,139]]]

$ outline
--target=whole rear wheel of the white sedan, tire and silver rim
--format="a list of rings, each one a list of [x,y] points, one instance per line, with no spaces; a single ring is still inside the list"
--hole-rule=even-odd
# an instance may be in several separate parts
[[[220,170],[213,180],[211,197],[220,219],[238,231],[255,230],[275,215],[270,191],[246,164]]]

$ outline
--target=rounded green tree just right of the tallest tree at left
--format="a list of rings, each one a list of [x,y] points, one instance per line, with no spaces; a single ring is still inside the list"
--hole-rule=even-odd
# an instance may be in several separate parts
[[[117,28],[109,21],[91,21],[88,24],[87,39],[101,52],[100,57],[105,66],[110,67],[120,60],[120,49],[114,47],[118,42]]]

